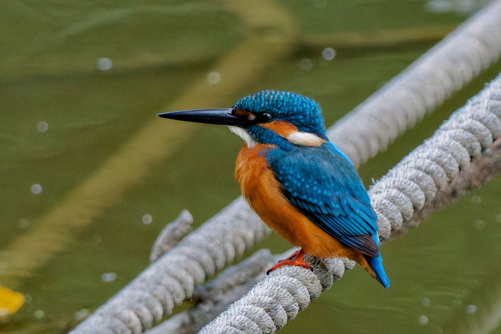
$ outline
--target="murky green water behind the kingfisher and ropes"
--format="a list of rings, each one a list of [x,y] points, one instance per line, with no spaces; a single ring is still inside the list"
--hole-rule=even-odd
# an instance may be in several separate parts
[[[208,95],[220,94],[217,86],[225,77],[212,85],[205,78],[247,39],[265,40],[287,20],[291,25],[284,30],[295,31],[290,49],[281,55],[272,58],[267,49],[260,51],[267,61],[261,71],[240,74],[252,59],[230,58],[232,75],[241,81],[214,98],[219,106],[262,89],[295,91],[316,99],[331,125],[433,46],[439,39],[433,36],[468,16],[432,12],[430,3],[416,0],[234,4],[240,7],[235,10],[230,1],[151,0],[0,4],[0,264],[15,258],[9,254],[12,245],[30,231],[40,236],[24,245],[43,253],[43,245],[52,242],[43,228],[35,230],[44,226],[43,217],[195,82],[205,82]],[[249,26],[246,11],[259,14],[259,6],[266,4],[281,11],[277,22]],[[271,10],[266,11],[264,18]],[[407,38],[409,30],[422,36]],[[358,34],[356,41],[350,33]],[[375,35],[384,38],[375,40]],[[330,42],[312,42],[318,36],[331,36]],[[321,57],[327,47],[336,50],[333,60]],[[112,61],[111,69],[97,68],[101,58]],[[429,137],[499,71],[501,64],[492,66],[362,166],[364,183],[378,179]],[[197,102],[186,108],[204,107],[217,106]],[[47,131],[37,130],[39,122],[47,122]],[[173,131],[167,123],[165,131]],[[18,258],[18,267],[28,275],[0,271],[0,284],[30,296],[16,314],[0,320],[0,331],[65,332],[77,323],[76,312],[94,310],[148,265],[156,235],[181,210],[188,209],[199,225],[239,195],[233,167],[240,139],[224,127],[184,129],[173,135],[184,140],[172,140],[170,151],[151,161],[144,175],[111,192],[109,205],[94,210],[88,223],[73,226],[81,212],[70,210],[58,222],[67,232],[57,252],[35,265],[27,261],[26,268],[25,259]],[[139,150],[128,159],[140,158]],[[120,168],[132,167],[125,163]],[[32,193],[34,184],[42,186],[40,194]],[[103,182],[96,194],[106,186]],[[493,332],[501,333],[496,325],[500,186],[501,178],[495,178],[385,244],[381,251],[389,290],[357,267],[282,331],[466,333],[490,321],[497,326]],[[151,224],[143,224],[145,214],[153,217]],[[275,234],[259,246],[274,252],[290,247]],[[116,273],[116,279],[105,282],[103,273]]]

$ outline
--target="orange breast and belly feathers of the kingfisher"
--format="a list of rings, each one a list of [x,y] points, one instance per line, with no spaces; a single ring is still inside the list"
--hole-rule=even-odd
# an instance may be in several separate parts
[[[280,191],[280,183],[268,168],[264,153],[273,145],[243,145],[236,159],[235,177],[247,203],[274,231],[305,253],[316,257],[348,257],[375,277],[365,257],[347,247],[295,209]]]

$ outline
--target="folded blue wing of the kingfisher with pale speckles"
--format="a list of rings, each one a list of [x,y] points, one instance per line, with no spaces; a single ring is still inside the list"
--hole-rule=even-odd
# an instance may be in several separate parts
[[[351,161],[340,152],[328,142],[277,148],[266,157],[294,207],[343,244],[377,257],[376,214]]]

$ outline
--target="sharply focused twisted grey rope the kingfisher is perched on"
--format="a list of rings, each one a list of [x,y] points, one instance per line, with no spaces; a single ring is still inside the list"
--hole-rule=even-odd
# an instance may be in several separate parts
[[[501,135],[501,75],[402,159],[369,190],[381,241],[419,213]],[[200,333],[273,333],[338,280],[353,261],[305,257],[314,271],[283,266],[229,306]],[[348,264],[348,265],[347,265]]]

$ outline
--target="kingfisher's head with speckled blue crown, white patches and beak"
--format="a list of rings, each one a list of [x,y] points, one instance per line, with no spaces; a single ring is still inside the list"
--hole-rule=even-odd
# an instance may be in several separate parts
[[[183,110],[158,114],[163,118],[226,125],[248,148],[257,143],[320,146],[327,142],[320,106],[305,96],[261,91],[236,101],[232,108]]]

